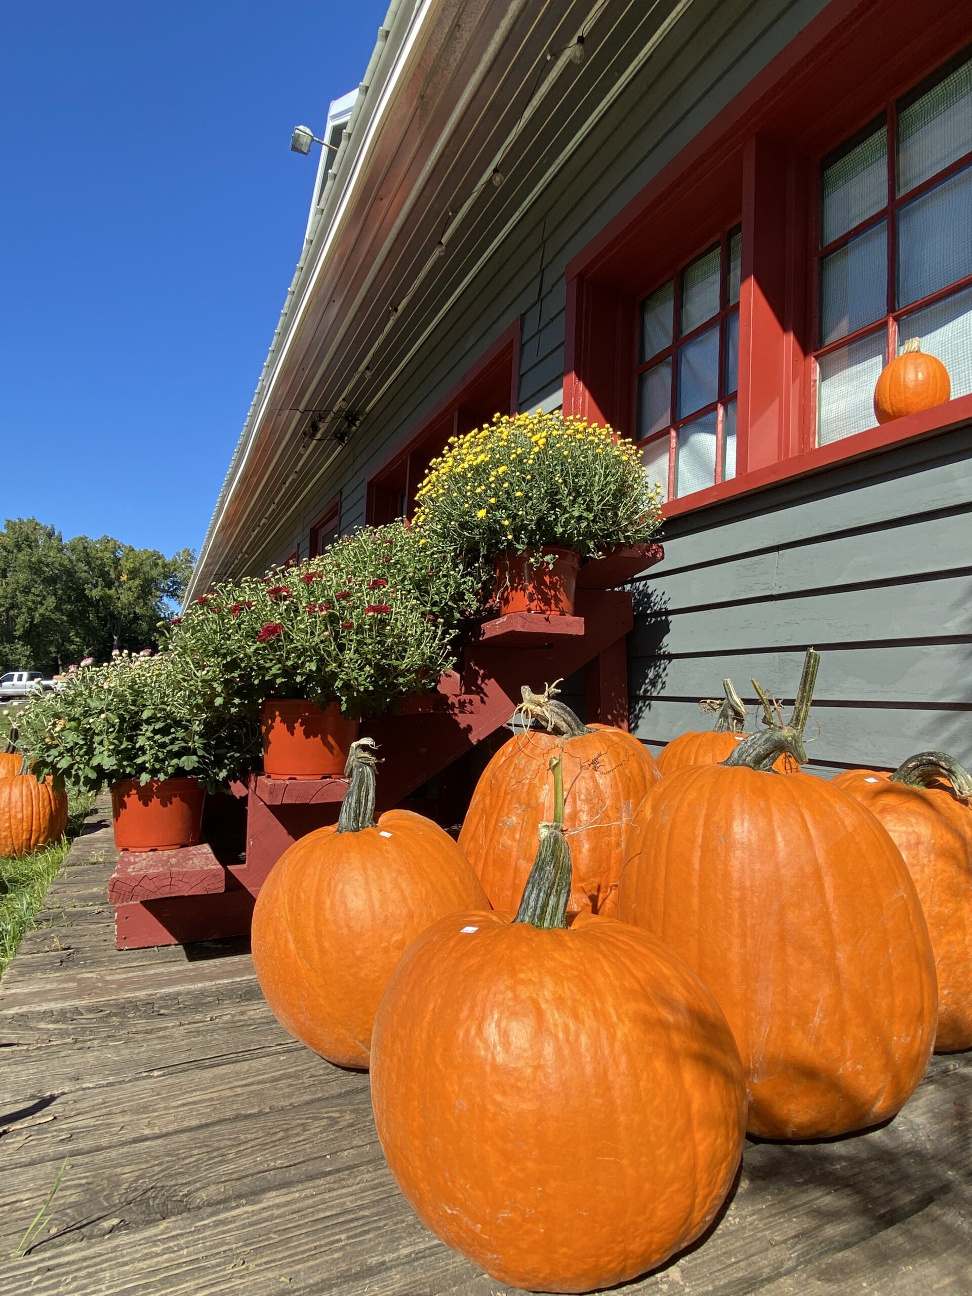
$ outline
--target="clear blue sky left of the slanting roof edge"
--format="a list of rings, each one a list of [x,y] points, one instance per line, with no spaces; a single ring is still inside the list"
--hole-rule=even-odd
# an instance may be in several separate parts
[[[5,6],[0,524],[198,551],[386,8]]]

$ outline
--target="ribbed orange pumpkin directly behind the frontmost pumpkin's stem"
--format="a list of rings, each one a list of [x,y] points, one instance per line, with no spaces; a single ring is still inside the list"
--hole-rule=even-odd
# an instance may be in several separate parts
[[[496,752],[473,792],[459,835],[494,908],[516,910],[530,875],[533,844],[551,816],[547,765],[564,753],[565,826],[572,835],[574,889],[569,914],[617,910],[623,833],[648,789],[661,778],[653,757],[631,734],[583,724],[556,687],[522,689],[518,712],[547,727],[515,734]],[[573,832],[573,829],[583,829]]]

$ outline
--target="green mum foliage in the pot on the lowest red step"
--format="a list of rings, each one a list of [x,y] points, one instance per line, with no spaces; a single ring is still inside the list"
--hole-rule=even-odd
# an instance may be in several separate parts
[[[209,788],[253,769],[259,734],[223,706],[215,670],[165,653],[115,652],[18,709],[18,748],[38,778],[97,792],[122,779],[193,775]]]

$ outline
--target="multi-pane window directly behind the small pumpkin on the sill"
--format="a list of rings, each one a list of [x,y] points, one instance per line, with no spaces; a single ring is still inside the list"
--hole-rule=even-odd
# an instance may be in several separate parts
[[[972,60],[892,104],[820,165],[816,443],[875,426],[908,338],[972,391]]]

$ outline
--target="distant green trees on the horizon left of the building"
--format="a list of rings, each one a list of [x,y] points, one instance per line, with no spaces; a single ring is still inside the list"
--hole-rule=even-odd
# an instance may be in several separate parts
[[[0,673],[66,670],[113,648],[158,645],[158,622],[180,600],[196,555],[171,559],[110,535],[65,540],[35,517],[0,530]]]

